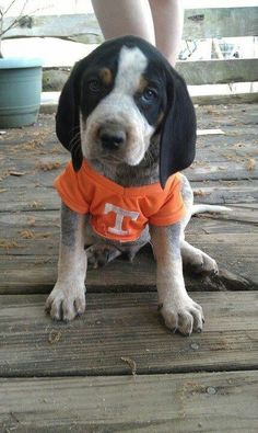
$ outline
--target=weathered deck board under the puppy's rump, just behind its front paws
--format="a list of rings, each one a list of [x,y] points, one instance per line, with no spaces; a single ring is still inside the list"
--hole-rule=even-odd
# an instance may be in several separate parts
[[[215,258],[221,269],[248,278],[250,284],[247,288],[257,287],[258,227],[248,224],[249,218],[246,217],[244,223],[213,218],[210,215],[192,218],[187,240]],[[3,228],[0,293],[49,292],[57,276],[58,213],[3,213],[0,214],[0,225]],[[192,275],[186,282],[188,289],[213,287]],[[155,263],[151,250],[144,249],[133,263],[116,260],[104,269],[89,270],[86,284],[93,292],[131,290],[133,287],[155,289]]]

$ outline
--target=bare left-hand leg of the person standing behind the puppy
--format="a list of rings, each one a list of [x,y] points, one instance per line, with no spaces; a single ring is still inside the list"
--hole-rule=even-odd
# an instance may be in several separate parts
[[[148,0],[92,0],[92,5],[105,39],[136,35],[155,45]]]

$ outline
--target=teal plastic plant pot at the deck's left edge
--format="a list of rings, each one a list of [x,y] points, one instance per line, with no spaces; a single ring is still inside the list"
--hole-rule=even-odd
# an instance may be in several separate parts
[[[40,107],[42,59],[0,59],[0,128],[36,122]]]

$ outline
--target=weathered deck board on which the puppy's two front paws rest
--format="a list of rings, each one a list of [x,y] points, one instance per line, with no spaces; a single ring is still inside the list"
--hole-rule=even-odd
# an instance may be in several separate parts
[[[156,294],[94,294],[69,324],[44,314],[43,295],[1,296],[3,377],[250,369],[258,366],[257,293],[195,293],[201,334],[184,338],[160,320]]]

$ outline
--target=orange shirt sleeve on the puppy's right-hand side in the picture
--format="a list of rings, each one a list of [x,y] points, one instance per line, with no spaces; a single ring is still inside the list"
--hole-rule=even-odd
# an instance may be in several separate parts
[[[164,202],[156,214],[149,218],[153,226],[167,226],[178,223],[185,216],[185,204],[181,197],[181,176],[176,173],[167,189]]]

